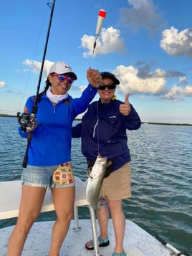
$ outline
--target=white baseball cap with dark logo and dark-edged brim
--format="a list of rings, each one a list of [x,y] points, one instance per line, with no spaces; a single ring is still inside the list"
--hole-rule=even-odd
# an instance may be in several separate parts
[[[55,62],[49,70],[49,74],[57,73],[59,75],[68,74],[70,77],[77,80],[77,75],[72,72],[72,68],[66,62]]]

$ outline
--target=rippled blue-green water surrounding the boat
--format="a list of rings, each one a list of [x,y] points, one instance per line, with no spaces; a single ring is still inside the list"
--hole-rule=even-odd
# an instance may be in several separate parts
[[[17,126],[16,118],[0,118],[0,181],[21,176],[26,140],[19,137]],[[143,124],[138,131],[128,131],[128,142],[133,197],[123,202],[126,218],[192,254],[192,126]],[[72,163],[75,175],[85,181],[79,138],[72,141]],[[49,212],[38,220],[54,218]],[[80,207],[81,218],[89,218],[87,208]],[[15,222],[0,221],[0,227]]]

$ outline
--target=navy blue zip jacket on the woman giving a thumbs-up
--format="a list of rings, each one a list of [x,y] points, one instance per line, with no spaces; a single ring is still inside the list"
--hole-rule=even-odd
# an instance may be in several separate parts
[[[115,158],[112,171],[129,162],[128,135],[126,130],[140,128],[140,117],[131,105],[130,115],[122,115],[120,100],[110,103],[91,103],[82,117],[82,123],[72,128],[72,137],[82,137],[82,153],[87,161],[95,160],[98,153],[102,157]]]

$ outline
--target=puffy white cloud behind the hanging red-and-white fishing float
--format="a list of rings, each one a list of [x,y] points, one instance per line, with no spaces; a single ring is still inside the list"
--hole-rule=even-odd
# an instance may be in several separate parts
[[[88,52],[83,53],[83,57],[92,56],[93,44],[95,42],[95,37],[87,36],[85,34],[81,38],[81,47],[88,50]],[[108,54],[111,52],[125,52],[125,42],[122,37],[120,37],[120,30],[109,27],[107,29],[102,28],[100,37],[97,38],[97,44],[95,47],[95,56],[98,54]]]

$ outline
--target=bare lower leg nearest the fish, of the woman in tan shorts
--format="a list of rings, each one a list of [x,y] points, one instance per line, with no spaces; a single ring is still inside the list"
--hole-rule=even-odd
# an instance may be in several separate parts
[[[109,222],[109,209],[108,206],[103,205],[97,211],[97,219],[100,226],[100,237],[105,239],[107,237],[107,227]]]

